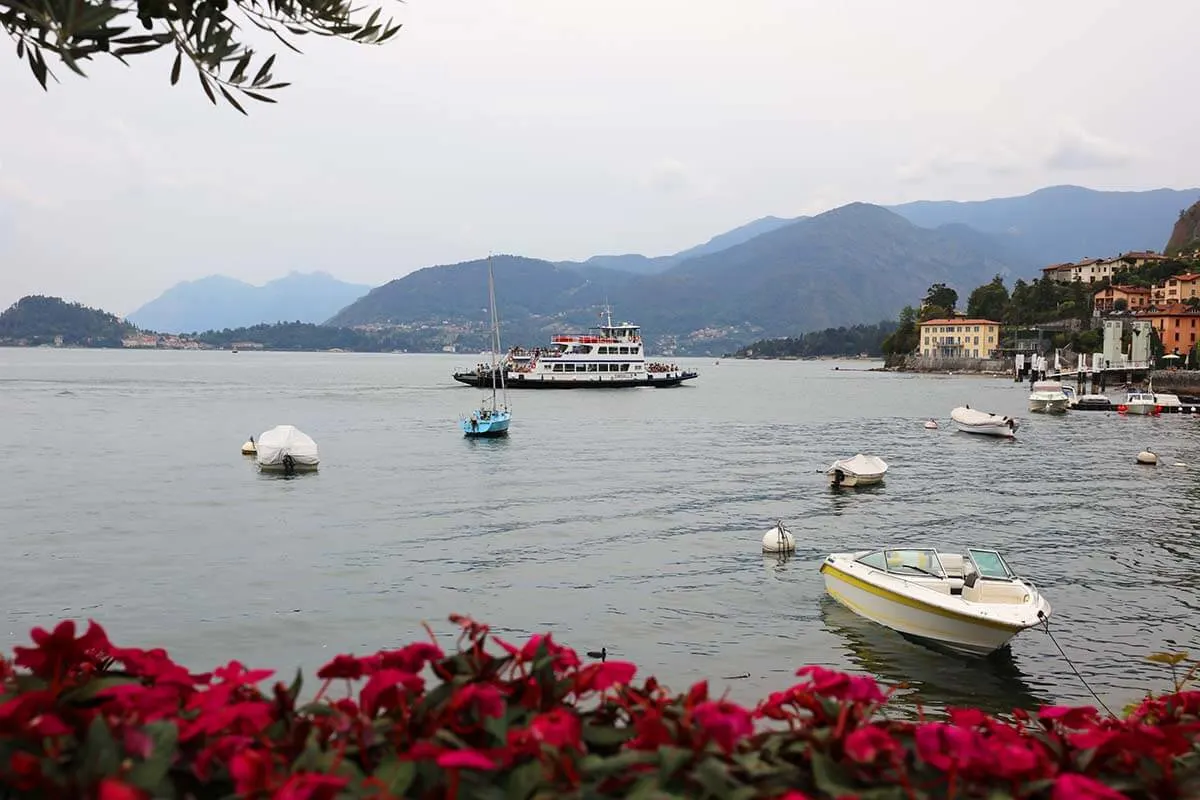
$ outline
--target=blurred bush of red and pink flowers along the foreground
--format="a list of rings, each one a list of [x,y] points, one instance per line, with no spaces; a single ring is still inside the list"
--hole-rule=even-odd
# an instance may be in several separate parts
[[[1092,708],[886,715],[869,678],[804,667],[755,708],[704,682],[672,694],[620,661],[581,662],[451,618],[436,638],[337,656],[301,703],[236,661],[194,674],[89,622],[35,628],[0,657],[0,796],[1188,798],[1200,692]]]

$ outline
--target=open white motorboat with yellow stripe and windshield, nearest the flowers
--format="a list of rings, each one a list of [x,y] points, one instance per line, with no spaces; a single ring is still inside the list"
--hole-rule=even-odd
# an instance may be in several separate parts
[[[833,553],[826,591],[856,614],[956,652],[985,656],[1050,618],[1050,603],[996,551],[935,548]]]

